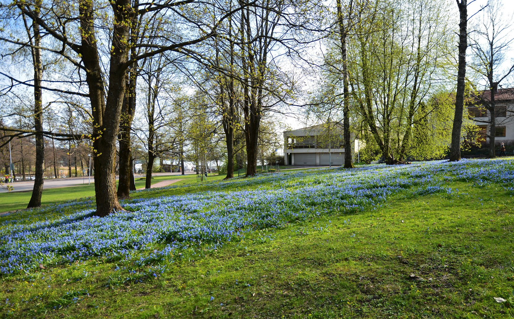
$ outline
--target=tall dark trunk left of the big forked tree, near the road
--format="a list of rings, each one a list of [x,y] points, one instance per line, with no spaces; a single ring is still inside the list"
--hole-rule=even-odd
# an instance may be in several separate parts
[[[37,6],[41,4],[38,1]],[[39,11],[36,12],[39,16]],[[34,47],[32,51],[32,63],[34,67],[34,129],[36,132],[43,130],[43,104],[42,104],[42,91],[41,80],[43,78],[43,64],[41,61],[41,33],[39,25],[32,22],[32,30],[34,33]],[[53,139],[52,139],[53,144]],[[55,148],[54,148],[55,160]],[[34,173],[34,186],[32,188],[32,196],[30,197],[27,208],[40,207],[41,196],[43,195],[43,163],[45,161],[45,144],[43,134],[35,134],[35,173]],[[57,176],[57,173],[56,173]]]

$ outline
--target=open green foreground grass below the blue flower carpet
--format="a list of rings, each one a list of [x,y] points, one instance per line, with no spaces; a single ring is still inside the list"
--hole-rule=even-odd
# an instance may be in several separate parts
[[[375,210],[247,234],[139,284],[108,285],[116,265],[96,261],[9,278],[0,294],[13,305],[3,312],[109,318],[514,316],[512,196],[501,186],[450,186],[459,193],[397,195]],[[74,303],[76,295],[81,299]],[[497,304],[492,297],[508,302]]]

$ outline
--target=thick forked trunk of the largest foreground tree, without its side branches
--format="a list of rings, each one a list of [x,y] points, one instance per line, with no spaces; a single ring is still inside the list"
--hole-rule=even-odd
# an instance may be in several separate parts
[[[128,35],[130,33],[132,6],[128,0],[111,2],[114,12],[112,50],[109,61],[109,85],[107,99],[104,100],[104,85],[100,57],[98,54],[94,26],[93,2],[79,1],[81,32],[81,54],[87,69],[86,82],[89,87],[89,100],[96,132],[93,147],[96,150],[95,195],[97,210],[95,215],[103,217],[123,210],[116,195],[116,140],[119,132],[121,107],[125,93],[126,69],[120,66],[128,60]],[[106,107],[107,106],[107,107]]]

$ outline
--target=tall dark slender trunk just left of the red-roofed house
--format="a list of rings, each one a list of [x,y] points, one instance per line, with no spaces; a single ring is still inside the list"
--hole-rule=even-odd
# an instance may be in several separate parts
[[[458,40],[458,72],[457,72],[457,93],[455,95],[455,116],[451,133],[450,161],[455,162],[461,159],[461,130],[462,114],[464,111],[464,91],[466,81],[466,50],[468,48],[468,4],[467,0],[457,0],[458,11],[461,21],[459,26]]]

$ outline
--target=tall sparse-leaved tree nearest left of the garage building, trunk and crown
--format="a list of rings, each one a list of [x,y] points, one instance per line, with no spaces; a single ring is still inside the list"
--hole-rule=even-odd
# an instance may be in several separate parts
[[[241,10],[238,43],[248,161],[246,176],[256,174],[259,127],[264,113],[287,100],[292,91],[293,83],[277,67],[277,53],[274,51],[279,45],[288,48],[284,38],[289,32],[288,28],[292,27],[287,22],[286,12],[294,12],[295,9],[295,4],[285,0],[263,0]]]

